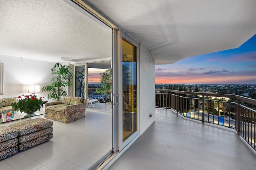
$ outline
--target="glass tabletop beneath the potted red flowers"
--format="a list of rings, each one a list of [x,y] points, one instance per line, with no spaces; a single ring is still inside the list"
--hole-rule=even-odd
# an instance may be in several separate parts
[[[0,124],[1,123],[8,123],[10,121],[17,121],[17,120],[21,120],[21,119],[31,119],[31,117],[34,117],[34,116],[38,116],[38,115],[44,115],[46,114],[45,112],[43,111],[36,111],[35,113],[32,113],[32,114],[26,114],[24,112],[20,112],[18,111],[17,113],[14,113],[14,116],[13,117],[7,117],[5,114],[2,115],[2,117],[0,117]]]

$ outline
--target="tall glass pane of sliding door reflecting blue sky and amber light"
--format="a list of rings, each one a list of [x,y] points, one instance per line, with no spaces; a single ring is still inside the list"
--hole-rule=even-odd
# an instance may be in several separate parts
[[[122,40],[123,141],[137,131],[136,46]]]

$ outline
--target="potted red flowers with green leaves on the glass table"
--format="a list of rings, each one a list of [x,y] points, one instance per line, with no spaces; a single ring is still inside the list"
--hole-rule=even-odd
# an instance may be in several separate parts
[[[43,97],[39,99],[34,95],[21,95],[18,96],[19,101],[12,104],[14,110],[24,111],[25,113],[34,113],[37,109],[40,111],[40,107],[43,107]]]

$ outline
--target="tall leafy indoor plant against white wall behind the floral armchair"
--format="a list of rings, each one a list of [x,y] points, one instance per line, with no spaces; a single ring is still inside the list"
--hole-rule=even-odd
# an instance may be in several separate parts
[[[62,96],[67,96],[66,87],[72,85],[72,67],[56,63],[51,72],[56,75],[52,78],[53,83],[51,86],[42,87],[42,92],[49,92],[48,99],[60,101]]]

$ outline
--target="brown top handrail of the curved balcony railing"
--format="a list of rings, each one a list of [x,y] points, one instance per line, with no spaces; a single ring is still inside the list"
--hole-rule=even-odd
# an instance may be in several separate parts
[[[155,89],[155,92],[173,92],[177,94],[185,94],[185,95],[195,95],[195,96],[213,96],[213,97],[224,97],[224,98],[232,98],[236,100],[240,100],[246,102],[248,104],[252,104],[256,106],[256,100],[247,98],[244,96],[238,96],[236,94],[219,94],[219,93],[202,93],[202,92],[184,92],[179,90],[170,90],[170,89]]]

